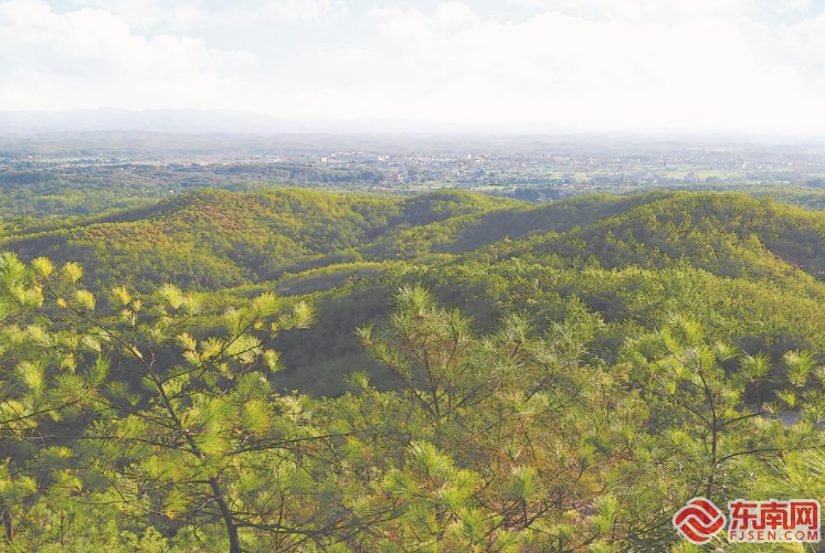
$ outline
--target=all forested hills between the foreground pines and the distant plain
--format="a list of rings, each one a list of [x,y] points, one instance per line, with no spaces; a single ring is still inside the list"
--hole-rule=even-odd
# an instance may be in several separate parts
[[[351,370],[380,373],[352,332],[383,320],[398,286],[421,280],[479,327],[527,312],[541,328],[586,337],[605,360],[627,336],[674,313],[752,352],[825,353],[825,214],[742,194],[536,205],[467,192],[205,190],[29,228],[4,236],[2,247],[77,260],[93,289],[174,283],[224,290],[223,302],[272,290],[309,297],[322,316],[307,337],[285,343],[279,377],[325,395],[343,391]]]

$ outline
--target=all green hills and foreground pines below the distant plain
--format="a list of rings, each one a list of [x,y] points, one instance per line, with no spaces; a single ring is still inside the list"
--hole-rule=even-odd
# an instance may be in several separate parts
[[[200,190],[0,248],[2,551],[676,553],[695,496],[825,499],[823,213]]]

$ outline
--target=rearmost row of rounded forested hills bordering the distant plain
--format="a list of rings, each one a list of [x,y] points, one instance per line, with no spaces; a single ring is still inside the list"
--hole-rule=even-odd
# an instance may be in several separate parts
[[[23,258],[82,262],[102,286],[218,289],[340,263],[436,263],[443,254],[603,268],[678,262],[719,276],[825,270],[825,215],[730,193],[592,195],[537,206],[466,192],[399,199],[205,190],[0,240]]]

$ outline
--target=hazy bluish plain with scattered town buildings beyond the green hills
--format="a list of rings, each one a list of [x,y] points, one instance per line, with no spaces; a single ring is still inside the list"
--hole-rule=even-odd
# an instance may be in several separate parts
[[[126,183],[136,196],[268,185],[415,193],[442,188],[551,201],[654,188],[825,188],[825,146],[522,137],[181,137],[81,134],[0,141],[0,178]],[[17,176],[17,177],[15,177]],[[42,176],[40,178],[42,180]]]

